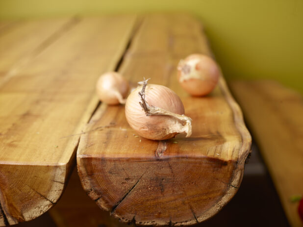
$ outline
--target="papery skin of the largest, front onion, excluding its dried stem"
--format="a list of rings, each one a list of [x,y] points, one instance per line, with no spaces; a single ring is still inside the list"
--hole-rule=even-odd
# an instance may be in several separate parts
[[[138,93],[142,86],[130,93],[126,100],[126,120],[137,134],[151,140],[166,140],[180,133],[181,122],[175,117],[164,115],[147,116]],[[157,84],[148,84],[145,88],[145,100],[151,106],[157,106],[170,112],[183,115],[184,106],[177,94],[171,89]]]

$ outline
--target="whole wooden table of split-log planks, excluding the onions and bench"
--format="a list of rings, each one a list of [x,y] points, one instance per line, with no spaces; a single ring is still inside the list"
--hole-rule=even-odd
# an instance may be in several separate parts
[[[191,98],[180,89],[177,62],[193,52],[211,55],[201,24],[182,14],[1,22],[0,225],[28,221],[50,209],[67,184],[77,150],[84,190],[124,222],[189,225],[217,213],[241,183],[251,137],[223,77],[206,98]],[[194,120],[192,138],[158,143],[132,136],[124,107],[100,105],[95,95],[97,78],[113,70],[133,82],[151,77],[175,90]],[[156,159],[154,151],[161,146],[165,152]],[[138,166],[143,150],[146,160]],[[125,171],[125,166],[116,168],[119,163],[128,165],[129,178],[104,178],[111,164],[116,175]],[[157,168],[163,172],[153,179]],[[184,175],[194,172],[192,178]],[[183,177],[176,180],[175,174]],[[158,198],[151,209],[137,213],[133,207],[148,204],[140,194],[147,184],[154,190],[151,199]],[[171,190],[176,185],[182,195]],[[173,194],[177,197],[168,199]]]

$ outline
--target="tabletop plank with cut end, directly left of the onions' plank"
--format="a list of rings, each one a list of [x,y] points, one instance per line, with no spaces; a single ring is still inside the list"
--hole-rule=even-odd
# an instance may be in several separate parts
[[[82,19],[0,85],[0,225],[31,220],[59,199],[77,133],[98,104],[96,80],[115,69],[135,21]]]

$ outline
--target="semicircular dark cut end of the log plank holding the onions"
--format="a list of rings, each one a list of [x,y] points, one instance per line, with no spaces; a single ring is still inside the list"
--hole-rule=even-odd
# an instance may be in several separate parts
[[[99,164],[92,166],[92,161]],[[78,173],[89,196],[122,222],[181,226],[210,218],[232,198],[239,186],[239,181],[232,181],[236,165],[217,158],[165,154],[161,158],[88,157],[79,160]]]

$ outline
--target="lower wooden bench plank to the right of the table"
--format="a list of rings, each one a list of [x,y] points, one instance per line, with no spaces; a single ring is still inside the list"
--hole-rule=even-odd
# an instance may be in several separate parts
[[[303,226],[297,203],[303,193],[303,99],[271,80],[232,81],[252,134],[278,190],[290,224]]]

